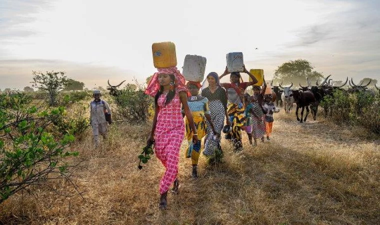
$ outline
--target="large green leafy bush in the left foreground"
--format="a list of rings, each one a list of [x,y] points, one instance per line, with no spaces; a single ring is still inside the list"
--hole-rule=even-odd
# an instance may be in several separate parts
[[[24,93],[0,94],[0,203],[33,185],[49,186],[47,180],[69,180],[64,159],[78,154],[67,150],[73,135],[46,129],[64,108],[42,111],[30,102]]]

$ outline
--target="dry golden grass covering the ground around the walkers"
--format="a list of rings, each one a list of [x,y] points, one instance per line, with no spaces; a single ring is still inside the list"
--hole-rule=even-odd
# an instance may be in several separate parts
[[[309,117],[311,119],[311,117]],[[73,146],[84,199],[38,189],[0,205],[0,224],[380,224],[380,146],[357,132],[318,122],[297,123],[294,112],[276,114],[271,142],[233,153],[223,141],[225,163],[190,178],[180,160],[180,193],[157,208],[163,167],[153,157],[137,169],[149,126],[113,124],[99,150],[91,137]],[[182,145],[182,155],[185,144]],[[57,183],[60,188],[68,184]]]

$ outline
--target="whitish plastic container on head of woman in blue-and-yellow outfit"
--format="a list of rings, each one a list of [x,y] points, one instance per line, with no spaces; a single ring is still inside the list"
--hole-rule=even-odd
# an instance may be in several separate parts
[[[186,54],[182,68],[182,75],[185,80],[200,82],[204,78],[206,58],[200,55]]]

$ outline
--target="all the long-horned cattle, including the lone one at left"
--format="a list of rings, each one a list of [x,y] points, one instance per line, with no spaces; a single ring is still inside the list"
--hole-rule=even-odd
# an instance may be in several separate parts
[[[334,86],[331,82],[332,79],[329,79],[331,75],[327,76],[322,83],[318,84],[318,81],[315,81],[315,85],[312,85],[309,79],[307,79],[307,86],[302,86],[299,84],[298,89],[294,89],[293,83],[290,84],[290,86],[282,86],[282,82],[278,84],[277,86],[274,85],[271,82],[270,85],[272,86],[273,92],[275,93],[276,96],[281,96],[276,97],[276,105],[280,107],[284,107],[285,112],[289,113],[290,110],[292,109],[293,103],[296,104],[296,111],[295,114],[297,116],[297,120],[299,122],[304,122],[306,121],[307,115],[309,113],[309,106],[311,109],[311,113],[313,116],[313,120],[316,119],[316,113],[318,110],[318,105],[320,102],[323,100],[325,96],[333,96],[333,91],[334,90],[342,90],[346,91],[348,93],[353,93],[353,92],[365,92],[369,95],[374,96],[376,94],[375,90],[368,89],[367,86],[370,84],[371,79],[369,79],[369,82],[365,85],[363,85],[363,82],[359,83],[359,85],[356,85],[352,78],[351,80],[348,81],[348,77],[345,80],[345,82],[342,85],[339,86]],[[125,80],[124,80],[125,81]],[[124,81],[117,85],[111,85],[108,80],[108,90],[109,94],[112,96],[117,96],[119,95],[120,91],[118,90],[117,87],[119,87]],[[349,84],[348,89],[344,89],[343,86],[346,84]],[[375,88],[377,90],[380,90],[379,87],[375,85]],[[300,113],[300,118],[298,117],[298,109],[302,108],[301,113]],[[306,108],[306,114],[305,117],[303,118],[303,111]],[[324,106],[324,115],[327,116],[328,110],[330,113],[332,113],[331,108],[329,109],[328,106]]]

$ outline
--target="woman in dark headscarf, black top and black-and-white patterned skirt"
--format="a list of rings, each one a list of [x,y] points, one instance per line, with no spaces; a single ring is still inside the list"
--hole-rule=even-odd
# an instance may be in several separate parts
[[[201,95],[207,97],[212,123],[216,132],[220,133],[224,125],[224,117],[227,124],[231,124],[227,114],[227,94],[220,86],[219,76],[216,72],[208,73],[203,87]],[[207,126],[203,154],[211,156],[208,160],[209,163],[220,161],[222,156],[220,139],[215,140],[212,136],[213,130],[210,126]]]

